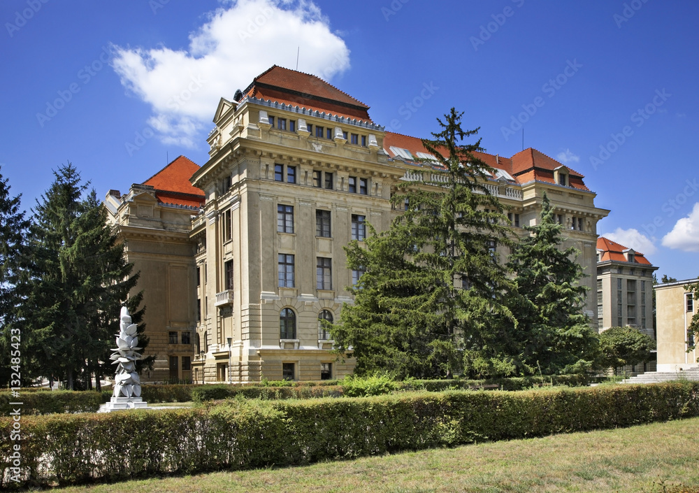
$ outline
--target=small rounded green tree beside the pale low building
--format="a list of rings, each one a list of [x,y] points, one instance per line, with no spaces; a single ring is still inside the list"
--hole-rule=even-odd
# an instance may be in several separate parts
[[[656,343],[647,334],[635,327],[610,327],[602,332],[600,338],[600,352],[602,362],[609,368],[617,368],[626,365],[634,365],[651,358],[651,350],[656,348]]]

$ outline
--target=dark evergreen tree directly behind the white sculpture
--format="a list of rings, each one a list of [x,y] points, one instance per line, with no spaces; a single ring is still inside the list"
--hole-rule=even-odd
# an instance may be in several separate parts
[[[106,222],[106,211],[71,164],[37,201],[28,248],[29,278],[22,318],[29,329],[34,366],[43,376],[89,388],[106,373],[120,306],[136,286],[124,247]],[[138,312],[140,296],[129,300]],[[137,313],[138,315],[138,313]]]

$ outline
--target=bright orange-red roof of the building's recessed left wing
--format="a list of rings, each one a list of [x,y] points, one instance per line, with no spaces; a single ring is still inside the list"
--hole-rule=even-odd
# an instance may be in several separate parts
[[[145,180],[143,185],[154,187],[159,202],[178,206],[200,207],[204,203],[203,190],[193,187],[189,178],[199,169],[199,165],[179,156],[163,169]]]

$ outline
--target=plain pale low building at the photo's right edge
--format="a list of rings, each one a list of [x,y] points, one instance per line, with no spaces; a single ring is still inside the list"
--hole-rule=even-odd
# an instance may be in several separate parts
[[[658,333],[658,371],[679,371],[699,367],[699,350],[692,349],[694,334],[689,331],[692,317],[697,313],[696,301],[686,286],[699,279],[658,284],[656,317]]]

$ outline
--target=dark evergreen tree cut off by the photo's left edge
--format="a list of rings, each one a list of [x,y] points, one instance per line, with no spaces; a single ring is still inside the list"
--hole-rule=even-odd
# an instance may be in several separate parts
[[[20,303],[18,284],[22,269],[20,258],[26,244],[29,221],[20,210],[20,195],[10,196],[8,179],[0,168],[0,385],[10,382],[10,366],[16,358],[24,361],[22,330],[13,323]],[[15,336],[13,338],[13,336]],[[27,365],[20,364],[20,367]],[[25,373],[20,371],[20,376]],[[20,378],[26,383],[24,378]]]

